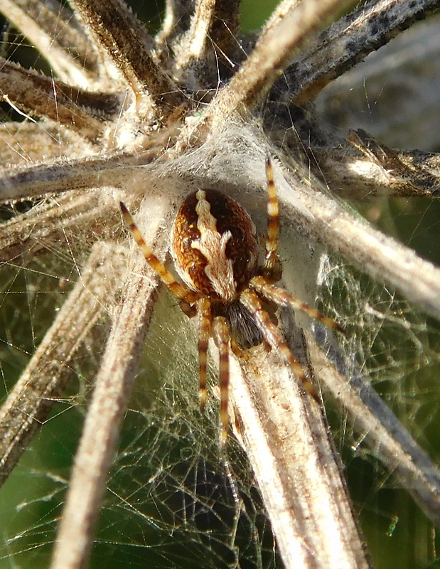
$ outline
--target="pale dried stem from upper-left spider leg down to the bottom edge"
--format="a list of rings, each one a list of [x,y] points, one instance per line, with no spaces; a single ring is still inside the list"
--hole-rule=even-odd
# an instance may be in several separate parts
[[[141,273],[143,268],[139,263],[136,272]],[[154,281],[133,277],[114,319],[75,456],[52,569],[81,569],[87,563],[155,296]]]

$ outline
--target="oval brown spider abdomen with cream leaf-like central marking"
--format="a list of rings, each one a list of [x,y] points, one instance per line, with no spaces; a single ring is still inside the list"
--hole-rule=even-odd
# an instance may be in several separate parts
[[[213,300],[231,302],[257,271],[254,223],[235,200],[198,190],[174,220],[171,252],[181,279]]]

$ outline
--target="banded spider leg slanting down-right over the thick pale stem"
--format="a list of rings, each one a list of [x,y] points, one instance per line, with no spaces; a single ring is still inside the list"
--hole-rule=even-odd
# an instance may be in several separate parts
[[[301,380],[302,384],[304,385],[304,388],[308,391],[308,393],[310,393],[313,399],[320,403],[315,388],[304,373],[303,368],[301,368],[299,363],[294,358],[289,349],[289,346],[287,346],[286,342],[279,333],[277,326],[275,326],[275,324],[270,319],[269,314],[267,314],[267,312],[262,307],[262,303],[258,298],[257,293],[253,290],[245,290],[240,296],[240,302],[242,302],[242,304],[244,304],[245,307],[250,310],[252,314],[254,314],[255,320],[257,321],[257,324],[262,331],[264,339],[270,344],[270,346],[281,352],[281,356],[283,356],[283,358],[289,362],[296,377],[299,378],[299,380]]]

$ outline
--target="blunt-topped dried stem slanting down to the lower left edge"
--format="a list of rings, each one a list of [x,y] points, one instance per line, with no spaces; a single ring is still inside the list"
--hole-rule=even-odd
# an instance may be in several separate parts
[[[102,303],[112,300],[121,272],[108,270],[108,253],[108,245],[95,245],[75,289],[0,410],[0,485],[62,395],[72,358],[100,317]]]

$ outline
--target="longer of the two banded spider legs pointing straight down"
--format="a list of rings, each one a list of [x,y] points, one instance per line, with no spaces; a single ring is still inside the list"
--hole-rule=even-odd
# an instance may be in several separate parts
[[[230,333],[227,327],[227,321],[224,317],[216,317],[214,319],[214,341],[218,347],[219,361],[218,371],[220,378],[220,444],[225,446],[227,440],[227,424],[229,416],[227,415],[227,404],[229,401],[229,345]]]

